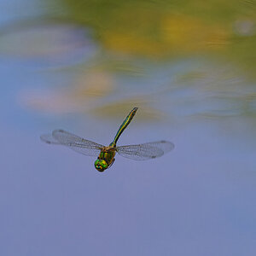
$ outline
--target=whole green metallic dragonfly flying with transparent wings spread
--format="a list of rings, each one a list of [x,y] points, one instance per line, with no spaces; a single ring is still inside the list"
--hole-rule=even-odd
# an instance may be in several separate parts
[[[120,135],[131,123],[131,119],[133,119],[136,112],[137,108],[133,108],[127,115],[123,123],[119,126],[119,130],[113,138],[113,142],[110,143],[109,146],[103,146],[102,144],[91,142],[83,137],[76,136],[61,129],[52,131],[51,134],[44,134],[40,138],[44,143],[63,145],[80,154],[98,156],[94,166],[99,172],[104,172],[113,165],[116,153],[131,160],[150,160],[171,151],[174,148],[174,144],[163,140],[153,143],[116,146]]]

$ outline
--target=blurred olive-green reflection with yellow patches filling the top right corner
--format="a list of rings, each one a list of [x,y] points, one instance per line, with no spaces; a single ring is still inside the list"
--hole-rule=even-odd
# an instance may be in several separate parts
[[[214,55],[255,77],[253,1],[58,0],[65,14],[95,30],[113,51],[166,59]]]

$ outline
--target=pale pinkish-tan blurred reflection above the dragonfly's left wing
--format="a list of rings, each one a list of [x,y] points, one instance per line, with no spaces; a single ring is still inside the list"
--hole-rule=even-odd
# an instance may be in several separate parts
[[[62,90],[26,91],[22,102],[31,108],[48,113],[76,113],[94,108],[115,88],[109,73],[86,73],[73,86]]]

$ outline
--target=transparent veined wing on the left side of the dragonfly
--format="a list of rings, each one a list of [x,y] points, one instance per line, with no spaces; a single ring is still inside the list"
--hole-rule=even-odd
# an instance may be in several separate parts
[[[55,130],[52,134],[44,134],[41,137],[44,143],[64,145],[80,154],[96,156],[100,154],[103,145],[90,142],[82,137],[63,130]]]

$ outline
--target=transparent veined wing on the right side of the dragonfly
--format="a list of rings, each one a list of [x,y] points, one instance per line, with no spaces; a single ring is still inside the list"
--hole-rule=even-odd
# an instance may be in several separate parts
[[[171,151],[174,144],[166,141],[117,147],[117,152],[132,160],[148,160]]]

